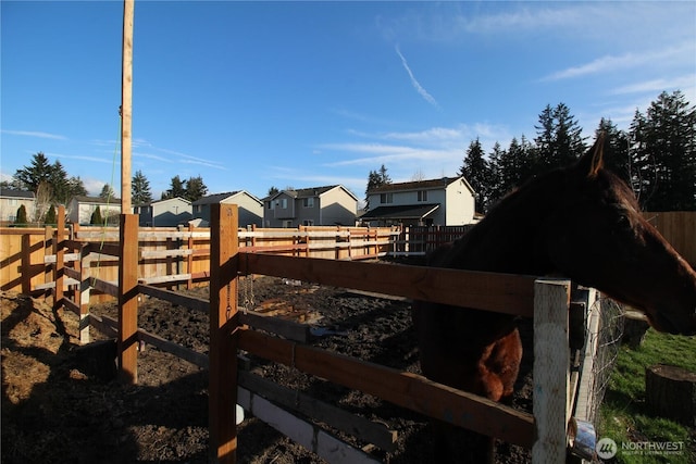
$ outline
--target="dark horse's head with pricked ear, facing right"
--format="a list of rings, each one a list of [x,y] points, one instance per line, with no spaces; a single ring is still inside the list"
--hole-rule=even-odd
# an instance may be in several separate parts
[[[542,230],[554,267],[643,311],[657,330],[696,334],[696,273],[604,167],[604,137],[563,171],[563,193]]]

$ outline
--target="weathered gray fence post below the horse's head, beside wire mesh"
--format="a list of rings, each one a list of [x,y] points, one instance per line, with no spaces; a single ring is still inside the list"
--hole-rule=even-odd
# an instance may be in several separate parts
[[[566,462],[570,280],[534,283],[534,464]]]

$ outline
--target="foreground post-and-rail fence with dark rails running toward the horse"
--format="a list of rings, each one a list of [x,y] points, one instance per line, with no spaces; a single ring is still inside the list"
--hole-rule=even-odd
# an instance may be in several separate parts
[[[117,339],[123,381],[137,383],[137,348],[140,342],[209,367],[211,462],[236,461],[236,404],[243,404],[256,416],[273,422],[281,431],[330,462],[375,462],[364,451],[341,442],[326,431],[319,430],[314,424],[303,422],[264,400],[262,397],[268,397],[269,392],[276,397],[283,397],[284,393],[278,393],[282,390],[278,386],[239,371],[239,350],[361,390],[418,413],[531,448],[535,463],[558,463],[566,459],[567,424],[571,414],[571,398],[574,397],[570,390],[570,350],[561,348],[569,346],[569,281],[408,265],[394,265],[385,273],[385,264],[380,263],[251,252],[239,247],[236,221],[235,205],[221,205],[213,210],[210,301],[184,297],[139,278],[136,215],[122,215],[120,244],[102,247],[100,251],[101,254],[119,258],[117,283],[87,277],[87,267],[80,264],[84,260],[65,260],[67,255],[84,258],[87,252],[94,252],[91,243],[57,241],[57,261],[52,266],[57,278],[52,289],[57,304],[80,314],[82,330],[88,333],[88,325],[91,325]],[[63,236],[62,227],[59,224],[57,236]],[[250,274],[534,317],[533,414],[433,383],[412,373],[306,344],[306,326],[239,311],[237,281],[240,276]],[[63,296],[61,289],[65,284],[74,291]],[[119,299],[116,321],[88,314],[86,291],[90,287]],[[209,313],[209,356],[139,329],[139,294]],[[88,339],[88,334],[84,339]],[[294,397],[293,403],[297,402],[297,397]],[[360,432],[361,440],[384,448],[394,444],[394,437],[385,427],[370,426],[369,422],[335,407],[326,413],[332,406],[318,406],[320,403],[315,401],[311,403],[312,413],[323,413],[323,419],[337,417],[341,424],[351,423],[353,426],[347,428],[353,434],[356,430],[365,430]],[[285,415],[283,421],[277,419],[281,415]],[[356,423],[360,423],[360,426],[355,426]],[[337,427],[340,428],[339,425]]]

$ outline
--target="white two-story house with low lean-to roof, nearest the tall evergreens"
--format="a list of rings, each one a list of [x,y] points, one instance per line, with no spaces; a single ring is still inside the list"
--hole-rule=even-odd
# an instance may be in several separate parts
[[[463,177],[386,184],[368,191],[370,225],[461,226],[475,223],[474,190]]]

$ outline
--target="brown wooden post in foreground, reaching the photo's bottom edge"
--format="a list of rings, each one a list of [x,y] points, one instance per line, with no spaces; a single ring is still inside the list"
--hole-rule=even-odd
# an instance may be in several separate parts
[[[210,351],[208,414],[210,461],[237,459],[237,316],[238,243],[236,204],[211,208]]]

